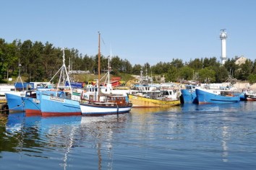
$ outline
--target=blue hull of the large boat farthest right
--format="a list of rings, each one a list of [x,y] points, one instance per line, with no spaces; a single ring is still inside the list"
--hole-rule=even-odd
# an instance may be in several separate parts
[[[221,96],[218,94],[213,94],[205,90],[195,89],[197,94],[197,99],[199,104],[215,103],[215,104],[224,104],[224,103],[235,103],[240,101],[240,96]]]

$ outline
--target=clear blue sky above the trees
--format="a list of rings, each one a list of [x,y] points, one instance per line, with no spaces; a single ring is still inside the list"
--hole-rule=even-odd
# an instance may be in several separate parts
[[[132,65],[221,57],[256,59],[255,0],[1,1],[0,37],[51,42],[83,55],[118,55]]]

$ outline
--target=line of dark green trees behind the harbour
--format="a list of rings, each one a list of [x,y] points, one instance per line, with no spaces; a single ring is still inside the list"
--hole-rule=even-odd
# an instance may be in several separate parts
[[[50,42],[31,40],[13,40],[6,42],[0,38],[0,81],[17,77],[20,73],[27,77],[26,81],[48,81],[62,66],[63,51]],[[101,55],[101,71],[108,69],[108,57]],[[72,70],[98,73],[98,54],[82,55],[77,49],[65,49],[65,64]],[[212,58],[195,58],[183,62],[182,59],[170,59],[170,62],[159,62],[153,66],[132,64],[119,56],[111,58],[111,74],[121,73],[164,76],[166,81],[195,80],[210,83],[221,83],[227,79],[256,82],[256,60],[247,59],[245,63],[236,65],[235,58],[229,58],[224,65]],[[20,62],[20,66],[19,66]],[[158,81],[158,80],[155,80]]]

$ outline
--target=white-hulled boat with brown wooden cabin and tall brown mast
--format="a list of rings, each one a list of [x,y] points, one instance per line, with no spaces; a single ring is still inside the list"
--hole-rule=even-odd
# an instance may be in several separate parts
[[[124,95],[103,94],[100,89],[101,81],[101,34],[98,34],[98,81],[95,86],[96,100],[80,102],[82,115],[119,115],[132,109],[132,103],[127,102]]]

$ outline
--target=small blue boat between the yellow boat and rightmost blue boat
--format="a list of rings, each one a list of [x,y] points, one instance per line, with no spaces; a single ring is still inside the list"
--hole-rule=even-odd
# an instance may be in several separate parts
[[[198,103],[197,94],[195,94],[195,89],[200,88],[200,86],[186,84],[186,89],[181,89],[181,102],[182,103]]]

